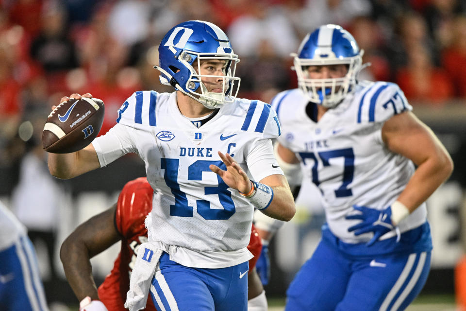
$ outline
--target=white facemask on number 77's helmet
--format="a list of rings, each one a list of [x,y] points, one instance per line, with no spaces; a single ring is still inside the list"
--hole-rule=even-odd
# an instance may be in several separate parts
[[[357,75],[362,67],[361,50],[359,55],[352,57],[322,57],[299,58],[293,53],[294,68],[298,75],[298,87],[304,92],[310,102],[320,104],[326,108],[332,108],[339,104],[347,94],[354,91],[357,83]],[[347,65],[348,71],[341,78],[311,79],[307,68],[309,66]]]

